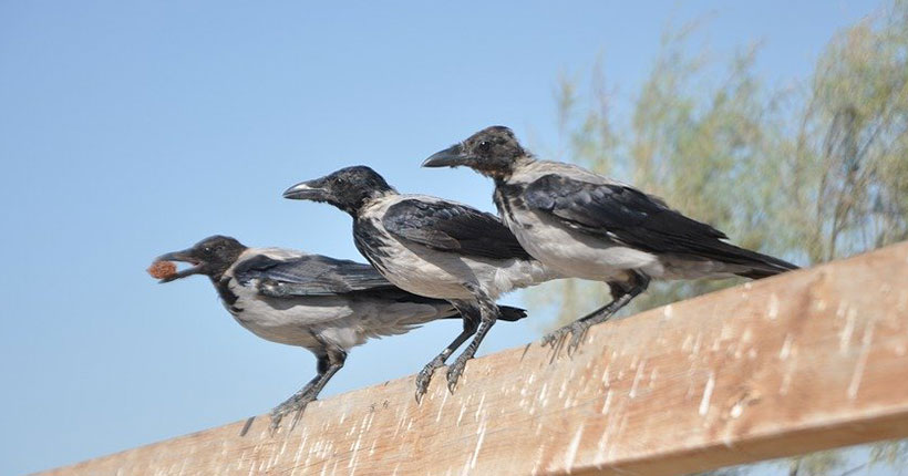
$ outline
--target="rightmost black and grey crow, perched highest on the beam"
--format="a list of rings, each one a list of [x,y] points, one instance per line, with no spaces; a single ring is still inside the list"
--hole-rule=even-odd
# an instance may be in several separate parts
[[[731,245],[722,231],[629,185],[577,165],[537,161],[504,126],[479,131],[423,166],[466,166],[492,177],[503,221],[534,258],[565,276],[608,283],[610,303],[544,340],[558,345],[570,332],[568,350],[650,279],[759,279],[797,268]]]

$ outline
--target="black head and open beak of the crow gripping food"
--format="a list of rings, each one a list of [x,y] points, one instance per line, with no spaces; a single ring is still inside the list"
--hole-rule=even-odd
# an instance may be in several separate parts
[[[246,247],[243,244],[230,237],[215,235],[205,238],[192,248],[157,257],[157,261],[180,261],[193,265],[190,268],[163,278],[159,282],[171,282],[193,275],[205,275],[219,279],[245,250]]]

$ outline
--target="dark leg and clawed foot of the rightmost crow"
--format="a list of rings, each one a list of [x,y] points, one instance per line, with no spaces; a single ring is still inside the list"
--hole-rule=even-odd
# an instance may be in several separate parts
[[[607,321],[627,306],[633,298],[647,290],[650,283],[650,278],[641,272],[633,271],[631,278],[627,281],[609,282],[609,290],[611,291],[612,300],[608,304],[590,312],[587,315],[557,329],[543,338],[543,345],[551,345],[557,354],[565,344],[568,334],[571,334],[570,342],[567,344],[568,353],[572,353],[580,346],[584,338],[589,331],[589,328]]]

